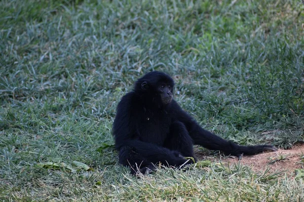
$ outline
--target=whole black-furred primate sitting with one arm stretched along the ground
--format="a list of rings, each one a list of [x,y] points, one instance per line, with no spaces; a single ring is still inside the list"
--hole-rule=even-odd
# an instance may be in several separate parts
[[[162,72],[149,72],[118,104],[113,136],[119,163],[131,173],[148,173],[155,164],[182,168],[194,163],[193,145],[199,144],[225,155],[236,156],[277,149],[272,145],[242,146],[227,141],[200,125],[173,99],[173,79]]]

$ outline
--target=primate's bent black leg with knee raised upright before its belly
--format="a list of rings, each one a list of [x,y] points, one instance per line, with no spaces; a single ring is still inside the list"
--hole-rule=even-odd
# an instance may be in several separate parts
[[[170,134],[167,137],[164,146],[171,150],[179,151],[184,157],[193,157],[195,159],[193,154],[193,143],[185,125],[179,121],[175,121],[170,126]]]

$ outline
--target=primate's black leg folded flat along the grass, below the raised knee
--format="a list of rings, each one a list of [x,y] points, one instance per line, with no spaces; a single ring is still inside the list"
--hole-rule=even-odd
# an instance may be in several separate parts
[[[122,150],[122,148],[124,149]],[[140,162],[144,161],[153,164],[161,162],[166,166],[180,166],[186,161],[186,159],[180,157],[180,153],[177,151],[140,140],[126,141],[125,146],[121,147],[120,150],[122,150],[120,163],[123,165],[131,164],[131,166],[134,166],[135,163],[139,165]]]

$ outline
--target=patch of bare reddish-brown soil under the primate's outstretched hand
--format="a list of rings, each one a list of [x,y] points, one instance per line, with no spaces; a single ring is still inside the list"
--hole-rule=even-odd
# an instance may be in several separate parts
[[[224,164],[238,164],[238,158],[210,156],[196,150],[199,160],[211,160],[216,162],[221,160]],[[282,172],[293,175],[294,170],[304,167],[304,143],[297,143],[291,149],[279,149],[274,152],[265,152],[253,156],[244,156],[240,164],[250,167],[255,172],[263,172],[270,169],[270,172]]]

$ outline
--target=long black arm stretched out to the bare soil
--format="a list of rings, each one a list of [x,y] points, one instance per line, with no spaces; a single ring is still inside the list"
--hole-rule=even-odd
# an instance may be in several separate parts
[[[239,157],[239,159],[242,157],[243,154],[253,155],[265,150],[277,150],[272,145],[242,146],[232,141],[227,141],[203,129],[194,120],[194,118],[188,115],[185,111],[183,111],[175,101],[173,101],[172,104],[174,105],[174,109],[176,110],[176,117],[186,126],[189,135],[194,140],[194,144],[199,144],[212,150],[221,150],[226,155],[237,156]]]

